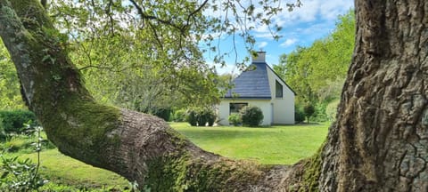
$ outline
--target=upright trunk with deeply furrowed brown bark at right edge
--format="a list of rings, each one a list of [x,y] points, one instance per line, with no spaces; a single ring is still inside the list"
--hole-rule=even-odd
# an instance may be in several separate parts
[[[428,191],[428,2],[356,1],[357,36],[325,191]]]

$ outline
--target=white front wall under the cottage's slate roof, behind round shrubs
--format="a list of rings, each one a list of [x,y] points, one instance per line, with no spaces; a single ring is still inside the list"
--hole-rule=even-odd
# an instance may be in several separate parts
[[[228,117],[230,115],[230,103],[248,103],[249,106],[257,106],[263,112],[263,122],[262,125],[270,125],[272,124],[272,105],[270,100],[231,100],[224,99],[221,100],[220,105],[218,105],[218,118],[219,124],[229,125]]]

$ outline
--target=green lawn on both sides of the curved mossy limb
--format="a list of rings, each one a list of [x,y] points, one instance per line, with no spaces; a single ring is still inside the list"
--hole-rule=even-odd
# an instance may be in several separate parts
[[[251,159],[261,164],[293,164],[311,156],[325,140],[328,124],[248,127],[192,127],[170,123],[201,148],[235,159]],[[30,157],[37,154],[12,153],[7,156]],[[117,188],[128,186],[119,175],[64,156],[57,149],[41,152],[40,172],[48,180],[74,188]]]

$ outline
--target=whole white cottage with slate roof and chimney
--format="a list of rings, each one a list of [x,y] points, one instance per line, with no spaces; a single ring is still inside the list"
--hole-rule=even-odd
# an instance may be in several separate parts
[[[266,52],[258,52],[252,63],[232,82],[218,106],[219,124],[228,125],[228,116],[244,106],[257,106],[263,112],[263,125],[294,124],[295,92],[276,75],[265,60]]]

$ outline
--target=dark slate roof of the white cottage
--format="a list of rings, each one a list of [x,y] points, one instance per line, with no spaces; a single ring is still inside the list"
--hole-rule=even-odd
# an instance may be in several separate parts
[[[225,98],[271,99],[268,80],[268,64],[266,62],[251,63],[241,75],[232,82],[233,88]]]

